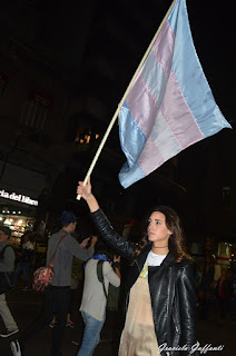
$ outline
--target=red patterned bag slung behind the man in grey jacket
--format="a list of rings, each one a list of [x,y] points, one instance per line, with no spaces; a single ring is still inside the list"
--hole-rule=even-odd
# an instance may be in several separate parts
[[[59,243],[58,243],[58,246],[48,264],[48,266],[43,266],[43,267],[40,267],[38,268],[35,274],[33,274],[33,277],[32,277],[32,289],[33,290],[37,290],[37,291],[43,291],[45,290],[45,287],[47,287],[51,281],[52,281],[52,278],[53,278],[53,259],[55,259],[55,256],[56,256],[56,253],[57,253],[57,249],[60,245],[60,243],[62,241],[62,239],[66,237],[67,235],[63,235]]]

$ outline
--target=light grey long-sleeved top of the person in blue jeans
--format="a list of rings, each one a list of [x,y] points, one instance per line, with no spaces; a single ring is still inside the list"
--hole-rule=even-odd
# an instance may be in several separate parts
[[[107,299],[105,297],[102,284],[97,277],[97,264],[98,260],[91,258],[86,265],[85,270],[85,285],[82,293],[82,301],[80,305],[80,312],[85,312],[91,315],[97,320],[102,320]],[[108,291],[109,283],[115,287],[119,287],[120,278],[115,274],[108,261],[102,264],[105,288]]]

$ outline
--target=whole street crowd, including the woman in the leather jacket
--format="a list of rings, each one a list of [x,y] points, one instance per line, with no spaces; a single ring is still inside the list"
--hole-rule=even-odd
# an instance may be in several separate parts
[[[77,192],[86,200],[98,234],[78,243],[72,237],[77,217],[71,211],[62,212],[61,229],[48,241],[47,264],[55,251],[56,255],[53,278],[45,289],[45,313],[26,330],[19,332],[6,293],[0,291],[0,315],[6,325],[6,333],[0,336],[19,334],[10,343],[12,354],[24,355],[28,340],[47,325],[52,328],[50,355],[61,356],[65,327],[73,327],[71,300],[80,279],[83,289],[79,310],[85,332],[77,356],[91,356],[100,339],[111,289],[119,290],[122,285],[121,257],[129,267],[124,278],[122,306],[119,305],[124,310],[119,356],[176,356],[183,347],[186,355],[195,355],[191,347],[197,342],[197,307],[199,318],[207,319],[210,305],[217,300],[220,323],[224,323],[229,300],[235,300],[235,275],[229,276],[210,256],[203,266],[196,266],[187,253],[179,217],[171,208],[159,206],[150,211],[142,239],[132,244],[111,227],[92,195],[89,180],[86,185],[79,182]],[[23,290],[29,290],[35,246],[26,234],[14,254],[9,245],[10,234],[8,227],[0,226],[0,273],[13,270],[17,255],[13,284],[22,273]]]

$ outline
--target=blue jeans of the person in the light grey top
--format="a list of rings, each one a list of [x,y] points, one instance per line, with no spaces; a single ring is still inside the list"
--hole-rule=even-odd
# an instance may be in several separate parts
[[[92,318],[91,315],[85,312],[81,312],[81,315],[85,322],[85,333],[82,344],[77,356],[91,356],[100,340],[100,332],[105,323],[106,313],[102,322]]]

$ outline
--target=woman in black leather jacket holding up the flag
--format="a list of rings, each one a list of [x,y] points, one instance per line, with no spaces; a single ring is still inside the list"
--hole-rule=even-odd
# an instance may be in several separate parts
[[[80,181],[77,192],[87,201],[100,236],[132,266],[119,356],[195,355],[195,273],[177,214],[165,206],[155,209],[136,246],[112,229],[89,180],[85,186]]]

